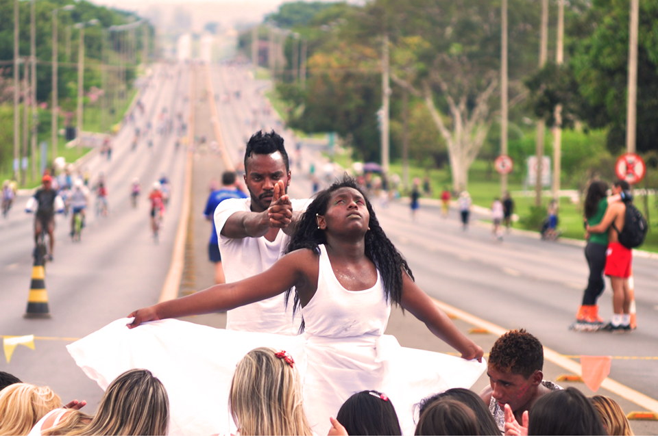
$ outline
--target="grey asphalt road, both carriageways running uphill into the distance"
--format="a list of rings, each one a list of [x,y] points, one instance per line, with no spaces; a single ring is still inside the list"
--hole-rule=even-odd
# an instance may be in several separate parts
[[[138,116],[138,125],[144,126],[147,119],[157,125],[156,118],[165,106],[169,114],[182,112],[186,119],[189,102],[199,108],[199,114],[205,113],[202,95],[186,101],[189,69],[182,68],[179,78],[177,68],[156,68],[142,97],[147,115]],[[167,77],[159,74],[162,70],[167,71]],[[247,69],[239,66],[213,66],[211,79],[222,138],[236,167],[242,160],[249,135],[258,129],[275,129],[282,132],[293,162],[289,193],[294,198],[310,196],[310,164],[314,163],[315,174],[325,181],[326,159],[319,155],[318,146],[312,142],[304,143],[297,155],[294,146],[297,140],[290,131],[283,129],[276,114],[265,103],[263,92],[268,83],[254,80]],[[197,120],[197,125],[197,135],[206,135],[206,131],[210,135],[207,119]],[[37,339],[35,350],[19,346],[11,363],[0,361],[0,370],[12,372],[29,383],[50,385],[64,400],[84,398],[94,405],[102,394],[69,357],[64,345],[71,340],[66,338],[82,337],[136,307],[154,303],[171,263],[182,202],[184,153],[175,151],[174,135],[156,135],[153,150],[142,140],[136,151],[130,151],[133,129],[129,125],[119,133],[111,162],[96,155],[85,164],[94,175],[93,180],[99,172],[104,172],[108,179],[110,216],[90,216],[80,244],[71,242],[68,222],[58,218],[56,258],[46,270],[51,320],[23,319],[32,271],[32,217],[21,210],[27,198],[19,199],[9,218],[0,222],[0,246],[3,247],[0,251],[0,335],[34,334],[39,338],[52,338]],[[197,160],[204,159],[201,152],[197,150]],[[221,164],[217,164],[217,177],[221,170]],[[160,244],[156,245],[149,233],[145,197],[152,181],[162,172],[172,181],[173,197]],[[133,177],[140,177],[143,182],[138,209],[132,209],[128,196]],[[199,189],[206,190],[202,182],[195,185],[195,190]],[[198,214],[202,206],[196,204],[192,213]],[[433,207],[422,207],[414,222],[405,201],[393,202],[387,207],[376,203],[376,211],[389,238],[409,261],[417,283],[430,296],[503,329],[528,329],[546,347],[561,355],[574,359],[579,355],[612,355],[611,379],[650,398],[658,398],[658,260],[635,257],[633,262],[639,324],[636,331],[622,335],[574,333],[567,327],[574,320],[587,279],[581,247],[542,242],[515,233],[505,235],[504,240],[498,242],[486,225],[474,223],[469,231],[461,231],[454,212],[443,219]],[[206,229],[197,231],[205,233]],[[197,250],[197,259],[203,257],[201,250]],[[199,259],[196,268],[212,266],[205,259],[203,262]],[[212,278],[212,274],[204,271],[196,276],[197,288],[211,284],[207,283],[207,278]],[[206,282],[201,277],[206,277]],[[600,298],[600,307],[601,315],[609,318],[609,285]],[[221,317],[199,317],[195,322],[221,326]],[[463,320],[455,322],[465,333],[472,327]],[[450,351],[438,339],[433,339],[421,323],[409,314],[402,316],[399,311],[393,313],[387,333],[398,336],[404,346]],[[472,334],[471,337],[485,352],[496,338],[490,334]],[[547,367],[549,379],[566,372],[550,363]],[[485,383],[482,379],[477,389]],[[623,402],[622,407],[626,411],[642,409],[632,402]],[[635,425],[634,428],[636,433],[658,431],[650,425],[639,427],[641,432]]]

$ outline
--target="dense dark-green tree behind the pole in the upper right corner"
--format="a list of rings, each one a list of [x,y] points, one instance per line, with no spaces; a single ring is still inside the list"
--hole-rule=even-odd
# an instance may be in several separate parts
[[[640,2],[637,68],[637,151],[658,150],[658,0]],[[607,148],[620,153],[626,143],[626,85],[629,56],[629,3],[595,0],[573,14],[566,35],[568,62],[548,64],[526,81],[533,110],[552,123],[562,104],[570,125],[581,120],[607,128]]]

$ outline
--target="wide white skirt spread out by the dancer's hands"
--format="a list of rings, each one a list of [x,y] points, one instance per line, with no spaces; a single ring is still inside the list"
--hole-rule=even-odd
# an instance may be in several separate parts
[[[66,348],[104,390],[121,373],[145,368],[167,388],[170,435],[234,434],[228,393],[237,363],[254,348],[286,350],[295,359],[304,411],[318,435],[326,435],[352,394],[378,390],[389,396],[402,434],[413,434],[414,406],[452,387],[469,388],[485,363],[404,348],[390,335],[328,338],[214,329],[161,320],[128,329],[114,321]]]

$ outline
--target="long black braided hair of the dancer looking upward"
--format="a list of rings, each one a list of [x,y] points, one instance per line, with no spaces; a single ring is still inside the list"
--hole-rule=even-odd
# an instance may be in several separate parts
[[[375,216],[375,211],[372,209],[368,196],[363,192],[356,181],[346,174],[343,175],[342,179],[334,181],[334,183],[332,183],[332,185],[326,190],[317,193],[313,202],[308,205],[308,208],[306,208],[306,211],[302,214],[300,220],[297,221],[295,232],[291,235],[290,242],[286,248],[286,253],[291,253],[300,248],[308,248],[318,255],[320,254],[319,244],[326,244],[327,240],[325,238],[324,230],[317,228],[315,216],[316,214],[326,214],[332,192],[340,188],[353,188],[358,192],[361,192],[363,198],[365,198],[365,205],[370,214],[370,221],[368,223],[370,230],[365,233],[365,255],[373,261],[376,268],[379,270],[384,285],[386,300],[392,301],[395,305],[399,305],[400,300],[402,300],[402,270],[404,270],[406,274],[409,274],[409,277],[413,280],[411,268],[409,268],[404,257],[402,257],[398,249],[395,248],[393,243],[387,238],[386,233],[384,233],[384,230],[379,225],[379,221]],[[288,304],[291,294],[292,290],[287,290],[285,296],[286,304]],[[297,292],[295,292],[293,312],[297,311],[299,305],[300,298],[297,295]]]

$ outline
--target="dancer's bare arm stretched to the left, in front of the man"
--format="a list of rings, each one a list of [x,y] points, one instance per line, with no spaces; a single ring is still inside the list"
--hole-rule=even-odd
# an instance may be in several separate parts
[[[300,287],[307,280],[305,268],[313,255],[310,250],[297,250],[284,255],[265,272],[248,279],[214,285],[183,298],[138,309],[128,315],[135,318],[128,326],[132,329],[147,321],[227,311],[271,298],[293,286]],[[317,260],[315,262],[317,264]]]

